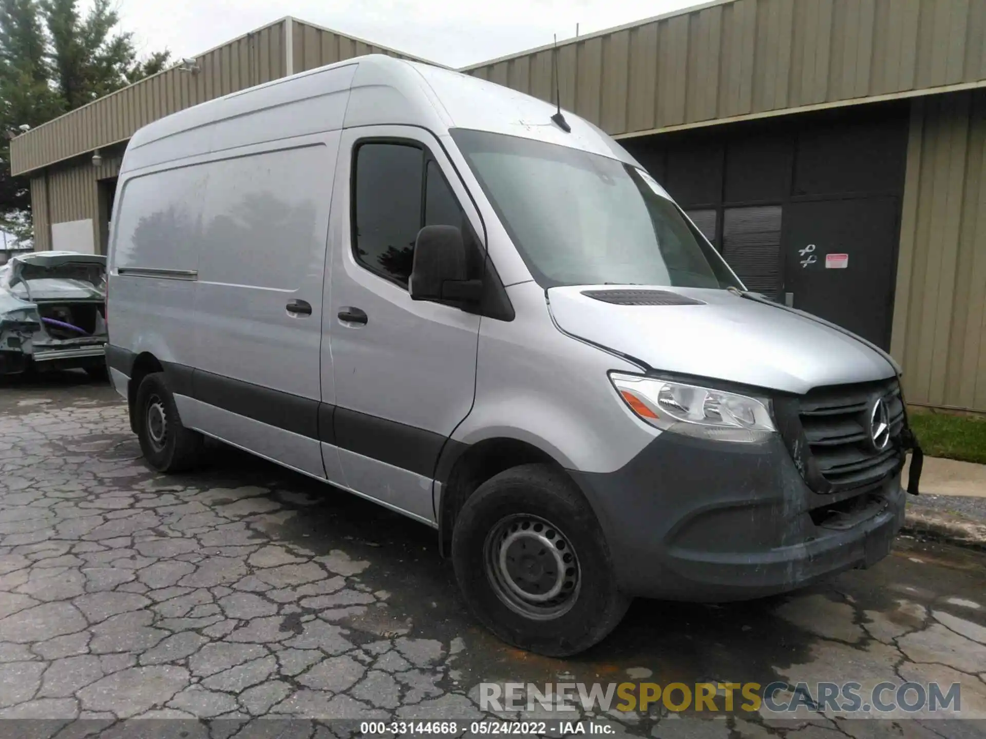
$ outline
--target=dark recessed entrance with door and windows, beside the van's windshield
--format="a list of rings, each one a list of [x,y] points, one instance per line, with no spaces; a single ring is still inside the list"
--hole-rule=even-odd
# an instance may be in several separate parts
[[[908,104],[857,105],[621,143],[668,188],[749,290],[886,348]]]

